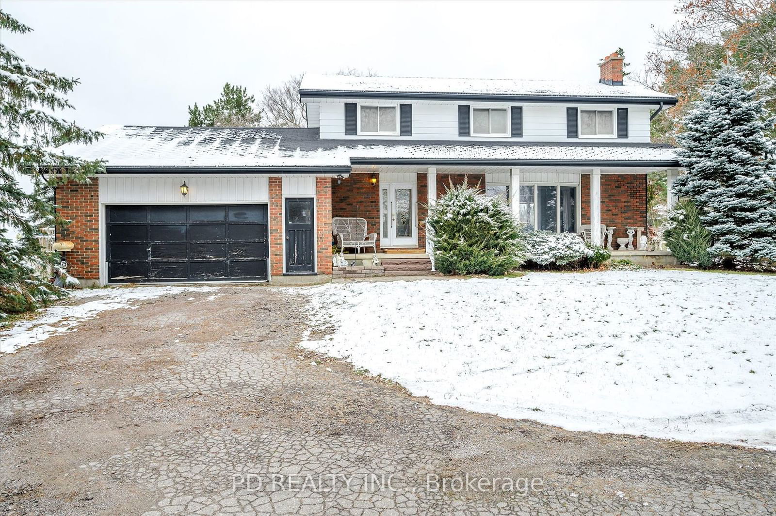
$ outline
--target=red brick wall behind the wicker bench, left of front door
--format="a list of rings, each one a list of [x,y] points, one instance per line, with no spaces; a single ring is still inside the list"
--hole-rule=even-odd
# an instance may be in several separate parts
[[[366,220],[366,232],[377,234],[377,249],[380,248],[380,187],[372,185],[371,174],[351,174],[331,179],[331,216],[360,216]],[[329,242],[332,241],[329,231]],[[352,252],[352,249],[350,250]],[[370,249],[371,251],[371,249]]]

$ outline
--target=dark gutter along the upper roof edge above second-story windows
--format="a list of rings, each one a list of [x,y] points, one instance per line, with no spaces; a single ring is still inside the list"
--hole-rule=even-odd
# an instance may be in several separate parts
[[[345,92],[341,90],[303,89],[300,99],[424,99],[455,100],[459,102],[553,102],[566,104],[650,104],[675,106],[676,98],[650,97],[595,97],[589,95],[472,95],[471,93],[404,93],[404,92]],[[661,108],[662,109],[662,108]]]

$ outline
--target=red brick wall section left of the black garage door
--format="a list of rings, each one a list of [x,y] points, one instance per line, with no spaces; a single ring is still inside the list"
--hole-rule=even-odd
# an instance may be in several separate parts
[[[57,213],[70,221],[57,227],[58,241],[71,241],[64,256],[69,272],[78,279],[99,279],[99,183],[69,182],[57,187]]]

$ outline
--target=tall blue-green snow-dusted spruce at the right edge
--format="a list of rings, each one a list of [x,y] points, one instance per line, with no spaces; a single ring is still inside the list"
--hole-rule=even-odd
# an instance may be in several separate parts
[[[776,267],[776,146],[765,135],[774,123],[764,101],[726,67],[677,137],[687,173],[674,193],[698,206],[712,235],[708,251],[726,268]]]

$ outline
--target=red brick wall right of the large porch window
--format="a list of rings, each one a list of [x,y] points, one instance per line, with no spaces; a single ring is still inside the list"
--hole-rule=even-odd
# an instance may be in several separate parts
[[[582,223],[589,224],[590,174],[582,175],[581,195]],[[601,174],[601,223],[617,228],[613,239],[628,236],[625,226],[646,229],[646,174]]]

